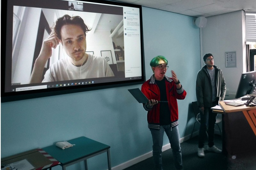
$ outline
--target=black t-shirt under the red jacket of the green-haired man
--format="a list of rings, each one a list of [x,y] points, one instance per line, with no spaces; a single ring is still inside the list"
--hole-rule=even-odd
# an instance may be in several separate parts
[[[160,101],[167,101],[165,79],[161,81],[156,80],[156,84],[158,85],[160,90]],[[160,125],[171,124],[171,114],[170,114],[168,102],[160,102],[159,104],[160,104]]]

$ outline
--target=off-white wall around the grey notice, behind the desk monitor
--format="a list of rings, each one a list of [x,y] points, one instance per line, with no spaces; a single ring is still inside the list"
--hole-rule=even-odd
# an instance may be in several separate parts
[[[201,62],[206,53],[212,53],[214,64],[223,71],[227,85],[227,99],[233,99],[241,73],[245,72],[245,14],[244,11],[230,12],[207,18],[206,27],[201,29]],[[236,67],[227,68],[225,52],[236,51]]]

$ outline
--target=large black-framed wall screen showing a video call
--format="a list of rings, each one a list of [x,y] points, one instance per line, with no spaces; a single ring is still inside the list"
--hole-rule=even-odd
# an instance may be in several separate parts
[[[140,5],[8,0],[1,10],[1,102],[145,81]]]

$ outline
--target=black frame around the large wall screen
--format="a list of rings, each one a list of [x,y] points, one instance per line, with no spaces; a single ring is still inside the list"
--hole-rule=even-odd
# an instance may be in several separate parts
[[[17,1],[17,0],[11,0],[12,3],[15,2],[15,1]],[[21,2],[32,3],[33,1],[20,0],[20,3]],[[37,2],[37,1],[34,1],[34,2]],[[50,0],[46,0],[46,1],[43,1],[42,4],[50,3],[50,2],[51,2]],[[63,2],[63,1],[61,1],[61,2]],[[142,7],[140,5],[125,4],[125,3],[119,3],[119,2],[114,2],[114,1],[104,1],[104,0],[98,0],[98,1],[82,0],[82,1],[79,1],[79,2],[84,2],[84,3],[93,2],[93,3],[117,5],[117,6],[124,6],[124,7],[125,6],[134,7],[134,8],[139,9],[139,12],[140,12],[141,77],[139,77],[139,78],[137,78],[137,77],[132,78],[131,77],[129,80],[127,78],[116,78],[116,79],[114,79],[114,81],[108,81],[108,82],[105,81],[108,78],[96,78],[99,83],[90,83],[90,84],[88,83],[86,85],[74,85],[74,86],[65,86],[65,87],[62,86],[62,87],[44,88],[44,89],[27,90],[27,91],[19,91],[19,92],[18,91],[6,92],[6,86],[10,86],[10,83],[8,81],[6,81],[6,72],[7,72],[6,68],[8,66],[8,64],[6,64],[6,57],[12,57],[12,56],[10,56],[6,53],[6,51],[8,50],[8,44],[12,44],[12,38],[7,38],[8,37],[8,34],[7,34],[8,28],[10,28],[10,25],[12,27],[12,22],[7,22],[8,18],[10,18],[10,11],[8,12],[8,7],[10,7],[10,5],[12,6],[12,4],[10,4],[10,1],[7,1],[7,3],[5,3],[5,4],[2,3],[1,4],[2,5],[2,7],[1,7],[2,8],[1,9],[1,27],[2,27],[1,28],[1,43],[2,43],[2,46],[1,46],[1,102],[26,100],[26,99],[33,99],[33,98],[68,94],[68,93],[75,93],[75,92],[84,92],[84,91],[92,91],[92,90],[114,88],[114,87],[121,87],[121,86],[128,86],[128,85],[137,85],[137,84],[142,84],[143,82],[145,82],[145,64],[144,64],[145,61],[144,61],[144,45],[143,45],[144,43],[143,43],[143,26],[142,26]],[[37,4],[37,5],[40,5],[40,4]],[[6,25],[6,27],[5,27],[5,25]],[[3,45],[3,44],[6,44],[6,45]],[[112,58],[113,58],[113,56],[112,56]],[[10,74],[12,74],[12,73],[9,73],[9,75]],[[95,78],[88,78],[88,79],[86,79],[86,82],[92,82],[94,79]],[[101,81],[102,81],[102,83],[101,83]],[[40,85],[40,84],[41,83],[39,83],[38,85]],[[37,85],[37,84],[33,84],[33,86],[34,85]]]

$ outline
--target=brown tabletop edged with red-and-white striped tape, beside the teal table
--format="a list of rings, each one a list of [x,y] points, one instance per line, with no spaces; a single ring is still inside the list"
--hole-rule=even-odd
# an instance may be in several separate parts
[[[49,155],[43,149],[38,148],[3,158],[1,159],[1,165],[5,164],[7,166],[8,164],[24,159],[27,159],[27,161],[35,167],[35,170],[51,169],[53,166],[60,164],[59,161],[52,158],[51,155]]]

